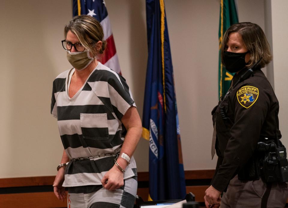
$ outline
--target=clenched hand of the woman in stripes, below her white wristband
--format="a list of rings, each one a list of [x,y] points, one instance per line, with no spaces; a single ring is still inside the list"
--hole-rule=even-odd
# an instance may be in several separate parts
[[[101,183],[104,188],[114,191],[124,185],[122,171],[114,165],[102,178]]]

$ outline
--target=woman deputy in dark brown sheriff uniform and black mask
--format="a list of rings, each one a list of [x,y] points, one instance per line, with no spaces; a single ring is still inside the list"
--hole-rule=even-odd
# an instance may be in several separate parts
[[[272,60],[264,32],[253,23],[232,25],[223,36],[221,58],[226,70],[236,74],[228,93],[212,111],[212,149],[218,160],[205,191],[205,205],[283,208],[287,184],[265,181],[260,168],[265,152],[257,151],[258,142],[277,143],[277,137],[281,138],[279,103],[260,69]],[[252,66],[253,71],[248,71]]]

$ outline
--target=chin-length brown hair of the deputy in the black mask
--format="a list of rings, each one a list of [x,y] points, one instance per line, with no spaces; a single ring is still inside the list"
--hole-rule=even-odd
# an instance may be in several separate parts
[[[257,65],[263,68],[266,64],[271,62],[273,56],[270,51],[270,45],[266,39],[266,36],[261,27],[254,23],[237,23],[229,27],[229,29],[223,35],[222,47],[221,47],[221,62],[223,62],[223,54],[226,48],[226,44],[229,39],[229,35],[232,32],[238,32],[241,35],[244,45],[250,52],[250,61],[246,67],[250,68],[254,63],[261,61]],[[224,65],[225,66],[225,65]]]

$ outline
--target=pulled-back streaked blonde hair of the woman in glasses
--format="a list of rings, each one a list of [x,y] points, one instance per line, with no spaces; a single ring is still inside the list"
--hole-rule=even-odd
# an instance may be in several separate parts
[[[89,15],[75,16],[69,24],[65,25],[65,39],[69,30],[77,36],[80,43],[88,49],[94,57],[104,52],[107,42],[104,40],[104,32],[101,24],[95,18]],[[100,50],[97,50],[95,47],[98,41],[102,41]]]

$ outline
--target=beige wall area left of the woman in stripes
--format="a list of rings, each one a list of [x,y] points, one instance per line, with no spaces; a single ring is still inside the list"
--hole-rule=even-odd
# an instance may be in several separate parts
[[[56,173],[61,140],[49,115],[52,81],[69,67],[62,50],[70,1],[0,2],[0,177]]]

